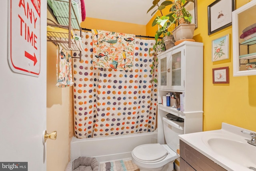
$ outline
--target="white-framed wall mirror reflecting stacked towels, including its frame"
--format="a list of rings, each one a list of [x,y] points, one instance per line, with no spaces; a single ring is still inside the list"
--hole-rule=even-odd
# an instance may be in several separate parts
[[[256,0],[232,12],[233,75],[256,75]]]

